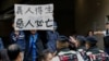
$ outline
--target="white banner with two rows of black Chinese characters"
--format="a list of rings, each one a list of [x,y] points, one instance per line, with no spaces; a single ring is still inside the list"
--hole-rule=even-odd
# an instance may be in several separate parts
[[[15,4],[16,30],[53,29],[53,4]]]

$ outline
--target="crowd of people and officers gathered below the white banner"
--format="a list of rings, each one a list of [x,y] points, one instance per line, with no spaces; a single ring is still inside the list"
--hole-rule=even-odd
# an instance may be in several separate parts
[[[109,23],[106,26],[109,27]],[[101,32],[89,30],[87,36],[66,37],[57,32],[55,23],[53,30],[47,30],[47,42],[44,42],[36,29],[29,30],[28,35],[23,30],[13,30],[8,48],[4,48],[0,38],[0,61],[109,61],[109,47],[99,49],[98,40],[94,36],[96,34]]]

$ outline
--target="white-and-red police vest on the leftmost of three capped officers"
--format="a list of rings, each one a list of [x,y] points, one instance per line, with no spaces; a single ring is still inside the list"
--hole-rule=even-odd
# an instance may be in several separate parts
[[[66,39],[65,37],[62,38]],[[62,48],[58,51],[57,56],[52,59],[52,61],[84,61],[84,60],[81,57],[80,52],[70,50],[69,48]]]

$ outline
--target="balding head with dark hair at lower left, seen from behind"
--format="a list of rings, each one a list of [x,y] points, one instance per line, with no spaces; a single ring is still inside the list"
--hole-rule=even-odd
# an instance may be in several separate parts
[[[17,45],[13,44],[8,47],[8,56],[10,60],[21,60],[21,49]]]

